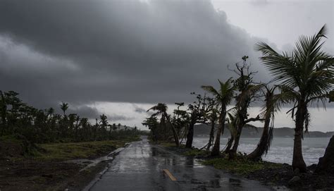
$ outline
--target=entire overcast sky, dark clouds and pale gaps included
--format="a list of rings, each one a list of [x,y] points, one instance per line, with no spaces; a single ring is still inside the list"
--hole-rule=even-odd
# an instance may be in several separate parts
[[[141,126],[151,104],[191,101],[201,85],[233,76],[227,66],[244,55],[266,82],[256,42],[291,49],[326,24],[333,55],[333,2],[1,0],[0,90],[39,108],[66,101],[82,116]],[[331,113],[312,111],[311,130],[334,130]]]

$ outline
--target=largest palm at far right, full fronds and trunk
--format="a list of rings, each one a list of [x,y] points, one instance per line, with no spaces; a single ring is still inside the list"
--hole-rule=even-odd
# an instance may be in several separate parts
[[[295,118],[295,140],[293,147],[292,168],[307,171],[302,155],[303,130],[309,127],[308,106],[319,102],[325,106],[326,92],[334,85],[334,58],[321,51],[321,39],[326,34],[326,26],[311,37],[300,37],[296,48],[279,54],[264,42],[257,44],[261,51],[262,63],[273,75],[274,81],[283,85],[283,92],[288,94]],[[295,109],[297,109],[295,111]]]

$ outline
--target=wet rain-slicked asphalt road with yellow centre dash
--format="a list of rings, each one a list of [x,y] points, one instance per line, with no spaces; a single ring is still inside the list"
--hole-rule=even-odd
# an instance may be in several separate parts
[[[163,171],[167,169],[175,181]],[[271,190],[151,145],[132,142],[89,190]]]

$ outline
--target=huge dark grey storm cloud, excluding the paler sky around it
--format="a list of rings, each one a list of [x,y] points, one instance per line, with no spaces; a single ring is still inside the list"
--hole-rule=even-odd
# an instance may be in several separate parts
[[[209,1],[2,0],[0,87],[37,106],[187,101],[245,54],[266,79],[257,41]]]

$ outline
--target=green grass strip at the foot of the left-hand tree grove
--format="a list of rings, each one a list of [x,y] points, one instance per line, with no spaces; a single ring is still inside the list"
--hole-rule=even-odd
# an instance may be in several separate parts
[[[0,137],[0,157],[11,160],[32,159],[36,161],[66,161],[69,159],[91,159],[104,156],[123,147],[125,143],[138,141],[139,136],[120,140],[93,142],[58,142],[47,144],[29,144],[13,136]]]

